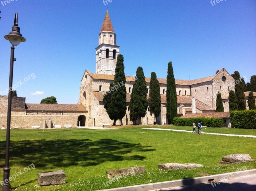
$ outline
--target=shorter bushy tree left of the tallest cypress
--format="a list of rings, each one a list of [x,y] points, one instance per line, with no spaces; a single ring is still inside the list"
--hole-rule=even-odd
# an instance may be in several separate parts
[[[114,126],[114,125],[116,125],[116,120],[118,118],[115,115],[114,107],[113,107],[113,99],[112,99],[113,90],[115,90],[114,83],[111,82],[109,85],[109,91],[107,91],[103,97],[103,104],[104,104],[104,108],[106,109],[106,111],[108,113],[109,118],[111,120],[114,120],[114,122],[113,122],[113,126]]]

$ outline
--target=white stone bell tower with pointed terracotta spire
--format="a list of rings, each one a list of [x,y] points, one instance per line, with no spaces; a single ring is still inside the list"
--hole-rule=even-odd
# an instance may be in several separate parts
[[[115,75],[118,54],[119,46],[116,45],[116,34],[107,9],[96,48],[96,73]]]

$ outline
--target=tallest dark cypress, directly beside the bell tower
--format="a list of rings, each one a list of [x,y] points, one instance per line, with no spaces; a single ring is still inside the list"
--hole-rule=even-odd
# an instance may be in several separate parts
[[[119,54],[116,61],[116,73],[114,77],[114,88],[112,93],[113,110],[117,119],[120,119],[120,124],[123,125],[123,117],[126,113],[126,88],[124,75],[124,57]]]

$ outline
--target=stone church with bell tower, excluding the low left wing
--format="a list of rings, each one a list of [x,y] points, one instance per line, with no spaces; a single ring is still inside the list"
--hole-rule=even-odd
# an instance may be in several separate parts
[[[110,83],[114,80],[116,59],[119,54],[119,46],[116,45],[116,34],[108,14],[105,15],[99,34],[99,46],[96,48],[95,73],[85,70],[81,80],[80,99],[78,104],[85,107],[87,113],[84,116],[85,126],[102,126],[112,124],[103,107],[103,96],[109,90]],[[161,114],[158,124],[166,121],[166,79],[158,78],[161,92]],[[129,120],[129,102],[134,83],[134,76],[126,76],[126,115],[123,124],[132,124]],[[147,92],[149,93],[150,78],[146,78]],[[197,80],[176,80],[178,99],[177,116],[187,113],[215,112],[216,95],[220,91],[221,96],[228,97],[229,90],[235,89],[235,80],[225,70],[220,69],[216,75]],[[224,101],[224,111],[228,111],[228,102]],[[142,119],[142,125],[153,124],[154,116],[147,111]],[[117,124],[119,121],[117,121]]]

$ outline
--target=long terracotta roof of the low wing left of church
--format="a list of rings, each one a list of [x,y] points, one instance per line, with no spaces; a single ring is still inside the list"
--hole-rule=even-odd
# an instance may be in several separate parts
[[[83,105],[78,104],[50,104],[26,103],[27,111],[85,111]]]

